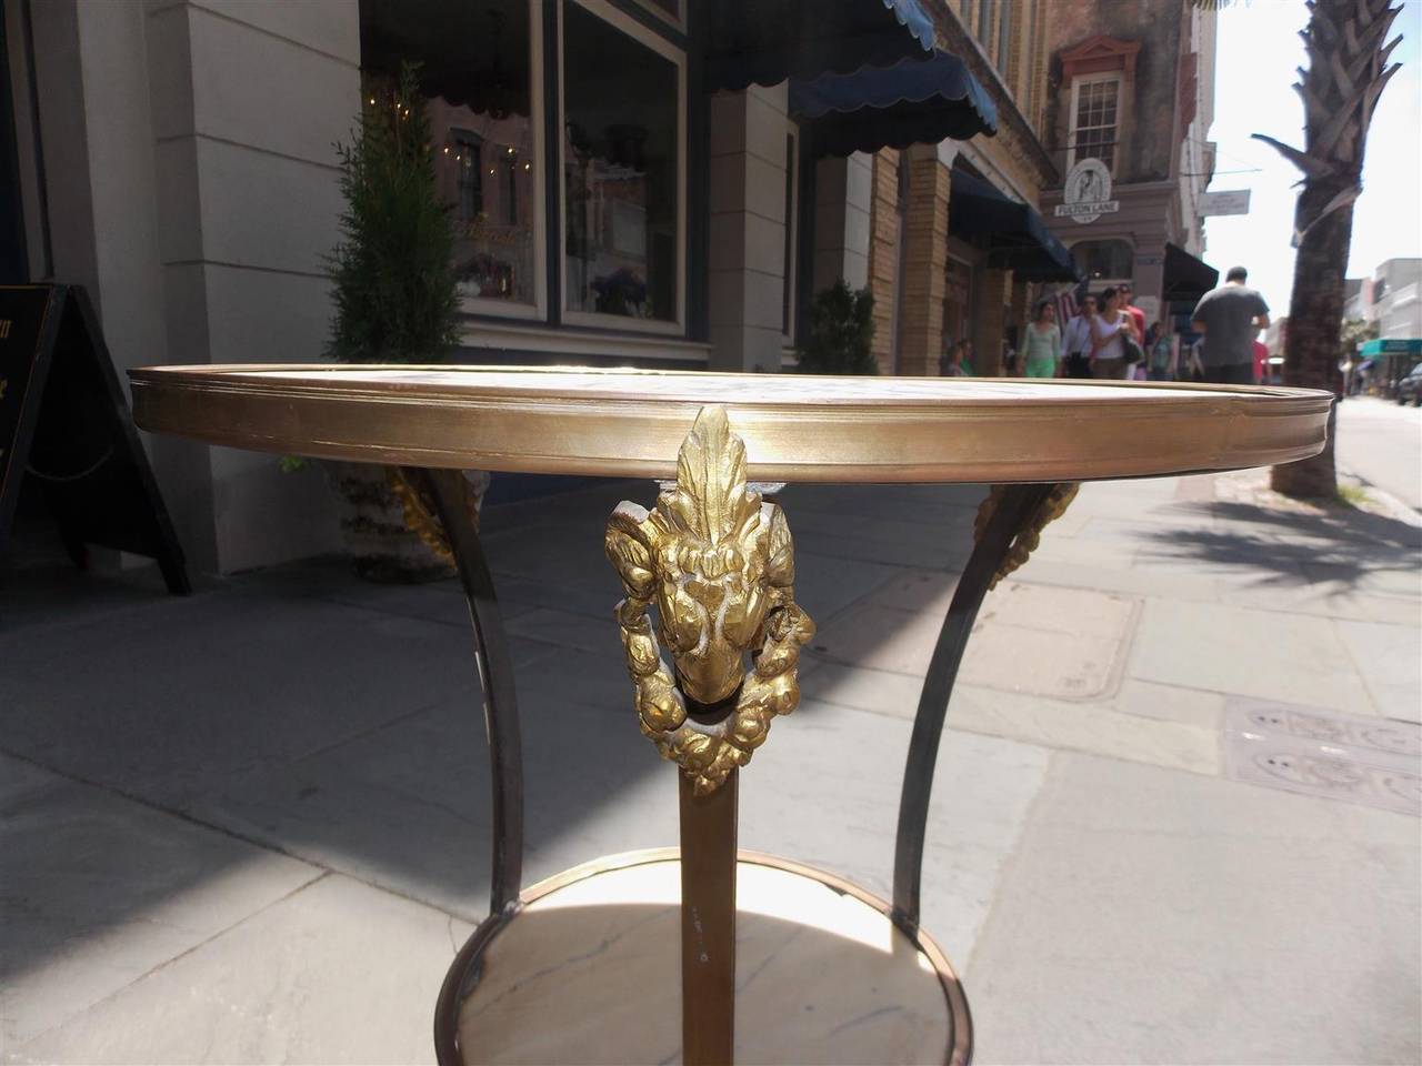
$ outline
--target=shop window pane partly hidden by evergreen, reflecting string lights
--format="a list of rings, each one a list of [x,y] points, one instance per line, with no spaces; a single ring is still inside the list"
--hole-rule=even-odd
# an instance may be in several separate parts
[[[468,310],[536,314],[543,291],[532,6],[361,0],[367,94],[419,64]]]

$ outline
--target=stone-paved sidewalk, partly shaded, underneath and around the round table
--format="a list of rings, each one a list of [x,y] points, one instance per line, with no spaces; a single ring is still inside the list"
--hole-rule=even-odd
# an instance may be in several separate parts
[[[1084,486],[984,605],[924,863],[978,1062],[1422,1056],[1422,532],[1263,485]],[[819,634],[801,709],[744,775],[744,847],[887,894],[981,496],[784,493]],[[623,497],[653,489],[485,513],[529,883],[675,841],[602,557]],[[455,583],[370,586],[336,561],[188,600],[146,574],[4,580],[3,1059],[431,1060],[434,995],[488,885]]]

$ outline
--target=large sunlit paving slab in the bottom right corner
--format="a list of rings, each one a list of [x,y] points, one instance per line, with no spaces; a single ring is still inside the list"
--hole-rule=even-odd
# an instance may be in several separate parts
[[[1416,1062],[1418,851],[1398,814],[1058,755],[967,967],[975,1059]]]

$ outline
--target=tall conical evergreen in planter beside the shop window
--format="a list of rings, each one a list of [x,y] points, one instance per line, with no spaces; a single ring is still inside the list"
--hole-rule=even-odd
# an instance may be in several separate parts
[[[435,189],[434,145],[417,68],[385,94],[364,95],[341,165],[341,243],[328,257],[336,317],[326,357],[340,362],[428,364],[458,344],[455,233]],[[431,502],[398,469],[328,463],[343,503],[341,534],[357,573],[419,581],[452,573]],[[478,513],[488,475],[471,475]]]

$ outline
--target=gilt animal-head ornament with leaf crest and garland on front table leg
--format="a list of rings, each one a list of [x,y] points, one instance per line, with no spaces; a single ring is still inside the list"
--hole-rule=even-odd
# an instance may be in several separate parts
[[[604,547],[627,594],[616,617],[641,732],[697,795],[714,792],[799,704],[799,648],[815,634],[795,603],[785,513],[748,486],[725,408],[697,415],[653,510],[613,510]]]

